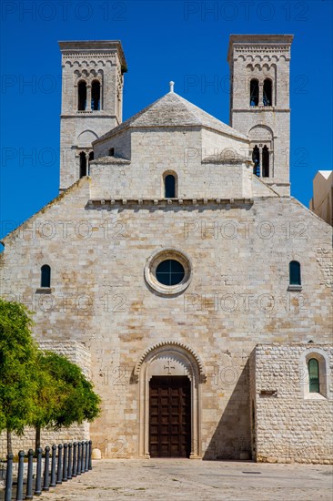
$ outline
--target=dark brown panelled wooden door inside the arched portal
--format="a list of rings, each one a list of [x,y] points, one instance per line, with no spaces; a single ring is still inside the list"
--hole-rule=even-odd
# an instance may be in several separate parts
[[[153,376],[149,383],[151,457],[189,457],[191,386],[186,376]]]

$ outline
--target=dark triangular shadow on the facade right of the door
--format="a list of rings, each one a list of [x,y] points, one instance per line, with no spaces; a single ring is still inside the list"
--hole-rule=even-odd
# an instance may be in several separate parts
[[[226,383],[221,383],[221,390]],[[203,459],[251,459],[249,362],[240,374]]]

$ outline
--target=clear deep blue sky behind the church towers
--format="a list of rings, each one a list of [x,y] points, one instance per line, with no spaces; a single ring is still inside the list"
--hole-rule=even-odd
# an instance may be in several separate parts
[[[122,41],[124,119],[175,91],[228,123],[230,34],[294,34],[291,193],[308,206],[318,169],[332,169],[332,0],[6,1],[1,5],[0,238],[56,197],[58,40]],[[194,82],[191,87],[187,82]],[[209,82],[217,86],[209,86]]]

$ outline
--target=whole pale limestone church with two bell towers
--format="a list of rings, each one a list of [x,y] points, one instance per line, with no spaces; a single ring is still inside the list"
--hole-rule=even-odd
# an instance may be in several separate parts
[[[333,462],[332,229],[290,196],[292,39],[230,36],[230,125],[173,82],[123,122],[121,43],[60,42],[60,194],[1,256],[2,294],[103,399],[58,438]]]

